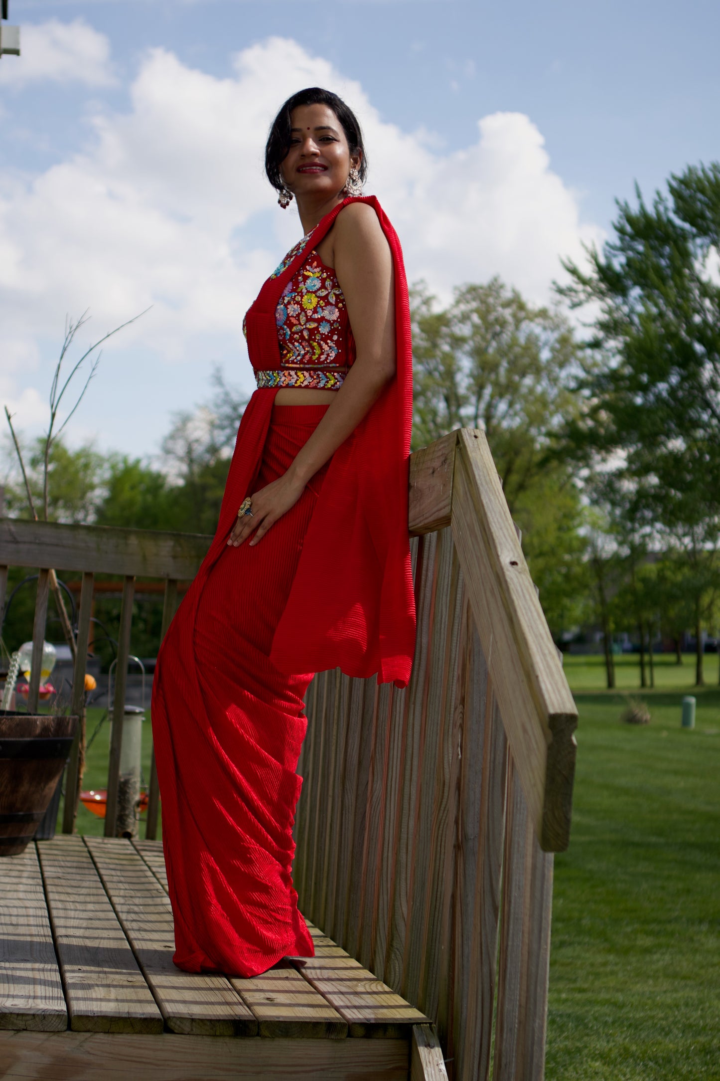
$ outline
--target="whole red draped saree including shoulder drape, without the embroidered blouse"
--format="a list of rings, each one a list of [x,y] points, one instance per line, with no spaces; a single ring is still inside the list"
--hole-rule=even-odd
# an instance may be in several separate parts
[[[350,200],[327,214],[246,316],[253,368],[280,368],[275,308],[287,281]],[[227,539],[246,495],[287,469],[327,406],[243,415],[217,533],[158,656],[152,730],[175,963],[253,976],[313,956],[293,888],[296,774],[315,671],[406,686],[415,648],[408,461],[410,316],[399,241],[375,197],[395,271],[396,377],[250,548]]]

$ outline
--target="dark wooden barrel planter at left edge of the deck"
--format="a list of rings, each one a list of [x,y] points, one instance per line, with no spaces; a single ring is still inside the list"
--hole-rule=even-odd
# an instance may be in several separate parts
[[[57,788],[77,717],[0,710],[0,856],[24,852]]]

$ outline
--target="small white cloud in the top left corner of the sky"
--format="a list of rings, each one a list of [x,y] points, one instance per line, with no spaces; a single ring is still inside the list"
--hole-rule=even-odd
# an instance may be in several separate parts
[[[21,27],[21,56],[0,64],[0,83],[24,86],[29,82],[80,82],[87,86],[113,83],[110,43],[81,18]]]

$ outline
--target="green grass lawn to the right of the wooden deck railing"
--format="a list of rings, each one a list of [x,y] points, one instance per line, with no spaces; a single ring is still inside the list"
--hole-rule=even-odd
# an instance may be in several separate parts
[[[637,658],[617,658],[619,683],[652,715],[627,725],[627,694],[600,690],[601,659],[566,657],[578,772],[555,860],[545,1076],[720,1079],[720,689],[693,691],[696,728],[682,731],[693,658],[656,658],[642,694]]]

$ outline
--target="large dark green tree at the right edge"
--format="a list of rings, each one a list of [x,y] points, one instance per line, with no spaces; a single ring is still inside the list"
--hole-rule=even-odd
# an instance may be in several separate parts
[[[720,164],[671,176],[652,205],[636,195],[636,206],[617,204],[613,239],[588,249],[587,268],[565,264],[559,294],[597,313],[595,363],[562,446],[607,469],[613,512],[649,549],[685,560],[702,683],[720,537]]]

